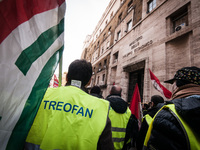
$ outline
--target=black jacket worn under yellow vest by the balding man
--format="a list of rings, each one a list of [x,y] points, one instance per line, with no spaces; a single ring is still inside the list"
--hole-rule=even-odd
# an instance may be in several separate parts
[[[112,109],[114,109],[115,112],[120,114],[126,112],[128,104],[121,98],[121,96],[109,95],[106,97],[106,100],[110,102],[110,106],[112,107]],[[132,139],[132,142],[131,145],[124,145],[123,149],[127,149],[127,147],[134,147],[137,135],[138,135],[138,121],[137,118],[132,114],[126,127],[126,136],[124,143],[126,143],[126,141],[128,141],[129,139]]]

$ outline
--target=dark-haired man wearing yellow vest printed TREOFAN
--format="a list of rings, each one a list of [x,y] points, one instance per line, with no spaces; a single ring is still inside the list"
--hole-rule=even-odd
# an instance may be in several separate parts
[[[92,65],[73,61],[67,86],[49,88],[26,139],[26,150],[112,150],[109,102],[85,92]]]

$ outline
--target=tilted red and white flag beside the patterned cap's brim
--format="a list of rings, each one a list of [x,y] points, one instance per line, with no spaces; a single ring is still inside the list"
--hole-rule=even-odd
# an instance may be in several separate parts
[[[151,81],[154,88],[158,90],[160,93],[162,93],[166,98],[171,98],[172,93],[160,83],[158,78],[151,72],[150,69],[149,69],[149,72],[150,72],[150,77],[151,77]]]

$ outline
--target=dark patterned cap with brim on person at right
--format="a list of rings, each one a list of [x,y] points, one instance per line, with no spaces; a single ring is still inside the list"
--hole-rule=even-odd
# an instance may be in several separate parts
[[[181,68],[176,72],[172,79],[164,82],[170,84],[176,83],[177,87],[186,84],[200,85],[200,68],[195,66]]]

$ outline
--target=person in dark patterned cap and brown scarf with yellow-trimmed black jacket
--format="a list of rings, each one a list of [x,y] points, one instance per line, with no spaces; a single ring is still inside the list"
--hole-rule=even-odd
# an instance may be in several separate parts
[[[200,149],[200,68],[184,67],[171,80],[172,101],[154,116],[144,149]]]

